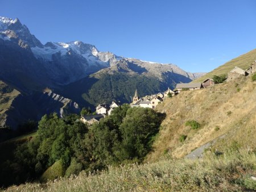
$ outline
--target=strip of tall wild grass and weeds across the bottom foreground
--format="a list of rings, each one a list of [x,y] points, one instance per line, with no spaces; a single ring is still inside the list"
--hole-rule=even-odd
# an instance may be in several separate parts
[[[82,172],[46,184],[26,183],[7,191],[254,191],[256,155],[230,151],[203,160],[162,160],[152,164],[109,167],[101,173]]]

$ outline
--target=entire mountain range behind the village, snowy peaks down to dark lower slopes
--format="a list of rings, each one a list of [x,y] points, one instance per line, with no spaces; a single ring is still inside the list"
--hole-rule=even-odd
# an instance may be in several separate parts
[[[130,102],[204,73],[100,52],[81,41],[42,44],[19,19],[0,17],[0,128],[44,114],[79,113],[99,103]]]

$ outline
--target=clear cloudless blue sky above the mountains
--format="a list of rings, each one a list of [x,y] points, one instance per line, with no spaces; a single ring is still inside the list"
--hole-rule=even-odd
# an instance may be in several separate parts
[[[255,0],[0,0],[42,43],[81,40],[123,57],[209,72],[256,48]]]

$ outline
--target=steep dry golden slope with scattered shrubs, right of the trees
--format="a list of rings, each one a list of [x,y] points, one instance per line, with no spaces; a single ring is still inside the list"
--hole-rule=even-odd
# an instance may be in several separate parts
[[[183,157],[222,136],[212,147],[221,151],[236,140],[247,148],[256,146],[256,82],[249,77],[207,89],[182,91],[168,98],[158,111],[166,112],[162,130],[147,161],[155,161],[164,153]],[[201,124],[197,130],[185,126],[188,120]],[[218,127],[218,128],[216,128]],[[185,135],[185,141],[179,141]]]

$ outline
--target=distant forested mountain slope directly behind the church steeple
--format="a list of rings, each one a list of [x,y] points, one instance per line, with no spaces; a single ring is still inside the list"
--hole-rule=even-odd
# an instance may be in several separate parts
[[[139,97],[165,91],[170,84],[157,78],[127,73],[102,73],[100,78],[86,77],[67,85],[59,91],[64,97],[72,98],[82,106],[93,107],[100,103],[110,104],[113,99],[121,103],[130,103],[138,90]]]

